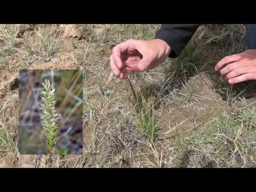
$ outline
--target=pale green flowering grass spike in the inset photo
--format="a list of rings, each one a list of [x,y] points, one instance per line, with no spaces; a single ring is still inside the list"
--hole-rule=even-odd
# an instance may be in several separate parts
[[[56,144],[57,138],[57,120],[58,114],[55,110],[55,89],[51,88],[49,79],[45,79],[43,83],[44,91],[41,91],[42,101],[41,110],[42,110],[42,124],[44,129],[44,134],[47,139],[47,145],[50,154],[54,154],[54,147]]]

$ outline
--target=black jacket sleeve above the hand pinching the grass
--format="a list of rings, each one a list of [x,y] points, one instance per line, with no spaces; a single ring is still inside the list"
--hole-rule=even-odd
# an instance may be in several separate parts
[[[162,39],[171,47],[170,58],[176,58],[188,44],[201,24],[163,24],[155,39]]]

